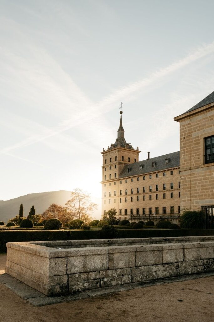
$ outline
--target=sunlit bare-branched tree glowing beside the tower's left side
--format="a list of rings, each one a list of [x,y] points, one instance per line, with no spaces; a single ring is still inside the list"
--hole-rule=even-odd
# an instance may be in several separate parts
[[[75,219],[81,219],[85,224],[91,221],[90,213],[97,209],[97,204],[91,202],[90,195],[76,188],[71,192],[71,198],[65,206]]]

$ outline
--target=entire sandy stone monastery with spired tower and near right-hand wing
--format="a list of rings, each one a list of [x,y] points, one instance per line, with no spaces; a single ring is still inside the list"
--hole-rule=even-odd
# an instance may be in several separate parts
[[[115,143],[103,149],[102,214],[130,221],[177,222],[184,209],[214,214],[214,92],[175,117],[180,151],[139,161],[126,143],[120,111]]]

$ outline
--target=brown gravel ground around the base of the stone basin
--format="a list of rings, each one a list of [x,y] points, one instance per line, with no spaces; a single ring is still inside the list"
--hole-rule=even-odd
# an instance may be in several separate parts
[[[6,256],[0,254],[0,270]],[[1,322],[213,322],[214,277],[33,307],[0,285]]]

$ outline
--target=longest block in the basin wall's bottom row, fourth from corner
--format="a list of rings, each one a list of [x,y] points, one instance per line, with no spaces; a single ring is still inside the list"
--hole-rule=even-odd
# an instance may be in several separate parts
[[[140,282],[150,279],[161,279],[179,275],[178,264],[160,264],[131,268],[132,282]]]

